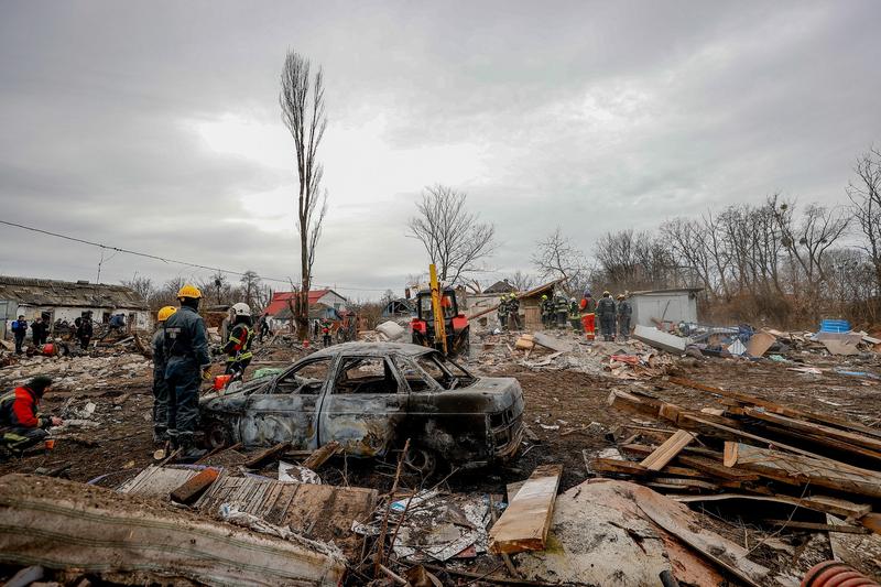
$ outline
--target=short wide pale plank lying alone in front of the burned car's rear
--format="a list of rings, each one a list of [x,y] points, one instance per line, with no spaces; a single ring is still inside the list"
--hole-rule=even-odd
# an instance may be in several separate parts
[[[537,467],[489,531],[494,554],[542,551],[551,528],[563,465]]]

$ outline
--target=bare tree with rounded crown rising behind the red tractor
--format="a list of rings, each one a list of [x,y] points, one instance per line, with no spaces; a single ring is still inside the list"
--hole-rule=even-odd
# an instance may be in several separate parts
[[[479,271],[478,263],[496,249],[496,227],[466,209],[467,197],[445,185],[426,187],[416,203],[418,214],[407,224],[407,236],[422,242],[438,279],[450,285]]]

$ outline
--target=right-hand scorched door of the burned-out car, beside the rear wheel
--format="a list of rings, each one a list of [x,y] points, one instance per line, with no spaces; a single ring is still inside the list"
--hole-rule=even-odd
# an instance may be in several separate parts
[[[340,357],[322,401],[319,443],[337,441],[352,456],[385,454],[406,417],[406,389],[387,357]]]

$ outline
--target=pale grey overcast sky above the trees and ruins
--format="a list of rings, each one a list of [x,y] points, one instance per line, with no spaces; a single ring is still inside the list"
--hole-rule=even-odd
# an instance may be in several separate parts
[[[557,225],[589,251],[773,192],[846,202],[881,141],[881,2],[0,0],[0,218],[296,276],[279,75],[322,65],[315,281],[401,290],[425,185],[497,226],[494,281]],[[100,251],[0,226],[0,274],[96,279]],[[126,254],[101,281],[194,271]],[[281,284],[275,284],[282,286]]]

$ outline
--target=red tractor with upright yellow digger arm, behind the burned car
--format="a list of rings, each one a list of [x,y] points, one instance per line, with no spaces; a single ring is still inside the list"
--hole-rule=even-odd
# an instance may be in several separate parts
[[[432,347],[447,357],[470,348],[468,317],[459,312],[456,290],[442,287],[434,265],[428,268],[431,287],[416,294],[416,315],[410,324],[413,344]]]

